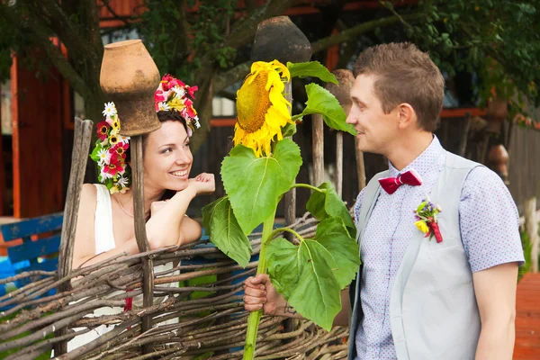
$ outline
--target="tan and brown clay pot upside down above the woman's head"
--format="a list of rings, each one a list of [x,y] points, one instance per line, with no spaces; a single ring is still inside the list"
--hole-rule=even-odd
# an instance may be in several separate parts
[[[105,45],[99,82],[107,100],[116,105],[121,135],[142,135],[161,127],[154,103],[159,81],[157,66],[141,40]]]

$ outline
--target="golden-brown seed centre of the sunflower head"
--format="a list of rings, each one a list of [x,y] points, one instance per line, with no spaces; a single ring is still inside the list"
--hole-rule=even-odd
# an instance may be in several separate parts
[[[251,84],[248,79],[238,90],[237,113],[238,126],[246,132],[255,132],[265,123],[265,115],[270,103],[269,91],[266,91],[268,72],[260,72]]]

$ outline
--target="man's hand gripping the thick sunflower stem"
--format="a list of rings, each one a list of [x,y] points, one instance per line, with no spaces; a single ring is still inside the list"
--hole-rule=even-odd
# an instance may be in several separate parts
[[[287,305],[284,297],[275,291],[270,277],[266,274],[250,276],[244,282],[244,309],[257,311],[263,309],[266,315],[284,315]]]

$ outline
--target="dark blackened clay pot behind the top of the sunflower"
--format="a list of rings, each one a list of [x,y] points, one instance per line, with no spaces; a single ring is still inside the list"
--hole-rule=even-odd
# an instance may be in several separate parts
[[[253,61],[277,59],[286,65],[287,61],[305,62],[310,58],[310,40],[289,16],[272,17],[258,24],[251,48]]]

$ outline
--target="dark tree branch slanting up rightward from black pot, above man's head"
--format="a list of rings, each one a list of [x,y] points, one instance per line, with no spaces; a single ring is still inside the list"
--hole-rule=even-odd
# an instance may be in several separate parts
[[[316,53],[323,49],[327,49],[332,45],[337,45],[341,42],[351,40],[354,37],[361,35],[365,32],[373,31],[378,27],[391,26],[396,23],[401,23],[401,20],[415,22],[421,20],[423,16],[424,14],[422,13],[415,13],[402,15],[401,18],[396,16],[389,16],[383,17],[382,19],[372,20],[371,22],[367,23],[360,23],[346,31],[341,31],[338,34],[331,35],[324,39],[315,41],[311,44],[311,47],[313,48],[313,53]]]

